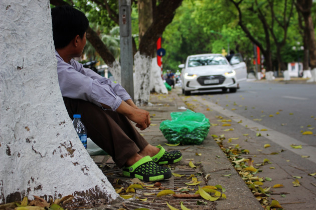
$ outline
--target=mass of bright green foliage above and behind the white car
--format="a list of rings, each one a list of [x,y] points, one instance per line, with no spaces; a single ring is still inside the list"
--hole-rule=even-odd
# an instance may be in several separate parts
[[[315,7],[313,3],[311,12]],[[184,0],[163,34],[164,67],[175,71],[190,54],[221,53],[224,48],[240,52],[249,69],[256,44],[261,53],[266,51],[264,67],[271,56],[269,70],[284,70],[287,62],[303,60],[298,18],[294,0]]]

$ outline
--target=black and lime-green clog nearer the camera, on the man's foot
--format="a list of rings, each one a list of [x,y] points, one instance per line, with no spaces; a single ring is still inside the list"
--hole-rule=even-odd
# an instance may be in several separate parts
[[[157,165],[150,156],[145,156],[131,166],[123,167],[123,175],[144,181],[158,181],[171,177],[168,167]]]

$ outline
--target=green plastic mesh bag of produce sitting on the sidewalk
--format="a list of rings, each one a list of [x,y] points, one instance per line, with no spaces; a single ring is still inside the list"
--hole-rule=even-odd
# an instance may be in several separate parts
[[[172,144],[201,144],[209,133],[210,121],[203,113],[187,109],[170,113],[172,120],[160,123],[160,130]]]

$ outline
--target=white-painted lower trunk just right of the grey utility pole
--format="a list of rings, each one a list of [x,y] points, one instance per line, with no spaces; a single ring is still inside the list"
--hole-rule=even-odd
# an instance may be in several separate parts
[[[146,105],[148,103],[150,68],[151,57],[140,55],[137,51],[134,56],[134,102],[136,105]]]

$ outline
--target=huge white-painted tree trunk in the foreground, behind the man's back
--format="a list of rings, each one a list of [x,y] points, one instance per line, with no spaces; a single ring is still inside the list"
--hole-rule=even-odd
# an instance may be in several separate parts
[[[84,149],[57,78],[49,0],[1,0],[0,203],[119,199]]]

